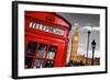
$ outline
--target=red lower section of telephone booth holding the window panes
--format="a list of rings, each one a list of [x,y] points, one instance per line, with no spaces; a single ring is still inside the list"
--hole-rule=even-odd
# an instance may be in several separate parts
[[[26,36],[25,68],[51,68],[64,66],[62,43]],[[61,44],[61,45],[59,45]],[[59,48],[61,47],[61,48]],[[61,52],[61,54],[58,54]],[[56,57],[57,56],[57,57]]]

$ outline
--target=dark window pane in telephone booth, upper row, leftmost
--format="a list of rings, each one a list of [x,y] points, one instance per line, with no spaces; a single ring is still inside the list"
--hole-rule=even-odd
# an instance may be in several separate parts
[[[29,42],[28,44],[28,49],[26,49],[26,55],[34,55],[36,48],[36,43],[35,42]]]

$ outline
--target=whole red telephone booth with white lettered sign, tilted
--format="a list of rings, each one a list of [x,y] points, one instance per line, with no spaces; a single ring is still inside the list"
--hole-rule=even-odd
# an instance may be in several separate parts
[[[25,11],[25,68],[65,67],[70,24],[54,12]]]

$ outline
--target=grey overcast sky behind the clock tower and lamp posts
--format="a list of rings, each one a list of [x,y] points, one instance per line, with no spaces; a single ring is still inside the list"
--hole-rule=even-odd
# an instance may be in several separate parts
[[[57,13],[64,19],[66,19],[72,24],[72,31],[69,33],[69,44],[68,53],[70,53],[72,35],[74,34],[74,25],[78,23],[79,25],[79,43],[78,43],[78,54],[85,55],[87,53],[87,31],[90,30],[90,43],[89,43],[89,57],[92,57],[91,52],[91,41],[96,41],[96,52],[95,57],[100,57],[100,15],[99,14],[79,14],[79,13]],[[90,27],[92,26],[92,28]]]

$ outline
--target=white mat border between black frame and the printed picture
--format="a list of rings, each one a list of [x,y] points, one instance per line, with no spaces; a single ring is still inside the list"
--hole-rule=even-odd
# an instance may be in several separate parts
[[[24,11],[100,14],[100,66],[24,69]],[[65,69],[64,69],[65,68]],[[18,77],[106,71],[106,9],[50,4],[18,4]]]

